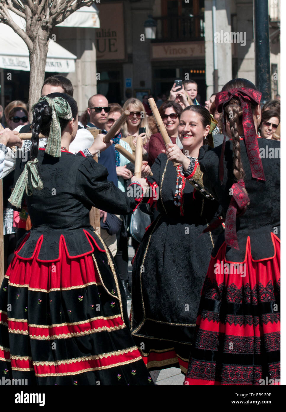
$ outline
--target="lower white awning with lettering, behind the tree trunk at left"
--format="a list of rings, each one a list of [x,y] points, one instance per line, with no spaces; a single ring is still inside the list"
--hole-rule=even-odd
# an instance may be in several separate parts
[[[19,27],[25,30],[26,22],[9,12]],[[71,73],[75,71],[77,57],[50,39],[46,60],[46,72]],[[7,24],[0,23],[0,67],[8,70],[30,71],[29,51],[24,40]]]

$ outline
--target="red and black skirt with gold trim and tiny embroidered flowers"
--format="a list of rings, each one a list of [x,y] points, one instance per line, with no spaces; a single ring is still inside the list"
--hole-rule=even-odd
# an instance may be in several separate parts
[[[1,286],[0,379],[153,385],[108,249],[71,259],[62,243],[56,262],[35,256],[37,250],[30,260],[16,255]]]

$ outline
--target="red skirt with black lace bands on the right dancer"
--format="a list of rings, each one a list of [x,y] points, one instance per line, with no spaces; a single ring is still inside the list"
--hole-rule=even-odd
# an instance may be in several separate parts
[[[226,262],[226,243],[211,258],[185,385],[280,384],[280,240],[272,241],[269,259],[253,260],[249,239],[244,262]]]

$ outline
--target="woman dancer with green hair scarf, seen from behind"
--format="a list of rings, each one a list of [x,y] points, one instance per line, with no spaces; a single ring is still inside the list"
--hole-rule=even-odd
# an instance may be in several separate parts
[[[140,199],[127,198],[91,157],[68,151],[77,115],[76,101],[61,93],[33,108],[31,160],[23,162],[10,198],[19,208],[25,192],[32,229],[19,241],[0,290],[0,378],[152,385],[111,253],[89,223],[91,206],[125,214]],[[46,150],[38,150],[40,132],[48,136]],[[103,137],[91,149],[108,147]]]

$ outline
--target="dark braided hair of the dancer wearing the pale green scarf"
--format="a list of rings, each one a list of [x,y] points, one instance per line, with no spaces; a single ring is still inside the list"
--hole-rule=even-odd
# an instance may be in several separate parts
[[[62,97],[64,98],[71,107],[72,117],[76,119],[78,114],[78,107],[74,98],[69,96],[66,93],[51,93],[48,94],[47,97],[55,98],[55,97]],[[52,119],[52,109],[48,105],[47,101],[40,101],[34,107],[33,111],[33,121],[32,121],[32,138],[31,138],[31,148],[30,148],[30,159],[35,160],[38,155],[39,149],[39,133],[42,133],[44,136],[48,137],[50,133],[51,127],[51,119]],[[59,117],[60,122],[60,129],[63,131],[69,120],[62,119]]]

